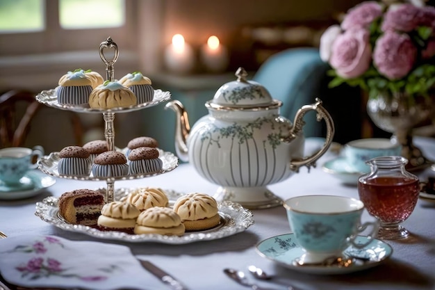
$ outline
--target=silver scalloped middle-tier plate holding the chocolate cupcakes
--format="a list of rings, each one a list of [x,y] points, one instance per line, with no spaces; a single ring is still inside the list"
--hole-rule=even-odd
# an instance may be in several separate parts
[[[127,179],[138,179],[138,178],[144,178],[144,177],[151,177],[156,175],[161,175],[165,172],[170,172],[177,168],[179,166],[179,159],[177,156],[175,156],[171,152],[165,152],[159,148],[158,150],[158,158],[160,158],[163,161],[163,167],[162,170],[157,172],[148,172],[141,175],[126,175],[122,177],[110,177],[108,179],[110,180],[127,180]],[[122,152],[125,151],[122,150]],[[46,173],[47,175],[51,175],[54,177],[60,177],[60,178],[66,178],[66,179],[76,179],[76,180],[95,180],[95,181],[106,181],[106,178],[97,178],[93,177],[92,173],[89,176],[76,176],[76,175],[59,175],[58,172],[58,163],[59,163],[60,157],[59,152],[51,152],[48,156],[42,156],[38,160],[38,168],[42,172]]]

